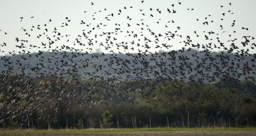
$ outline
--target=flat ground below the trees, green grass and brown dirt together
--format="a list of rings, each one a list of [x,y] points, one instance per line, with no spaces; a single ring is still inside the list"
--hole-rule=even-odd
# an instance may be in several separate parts
[[[86,130],[1,130],[0,135],[255,135],[255,128],[243,129],[86,129]]]

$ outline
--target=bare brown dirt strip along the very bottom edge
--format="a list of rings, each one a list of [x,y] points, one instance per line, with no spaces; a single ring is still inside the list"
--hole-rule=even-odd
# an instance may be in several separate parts
[[[0,135],[51,135],[51,136],[64,136],[64,135],[256,135],[256,131],[147,131],[147,132],[114,132],[114,133],[40,133],[40,134],[0,134]]]

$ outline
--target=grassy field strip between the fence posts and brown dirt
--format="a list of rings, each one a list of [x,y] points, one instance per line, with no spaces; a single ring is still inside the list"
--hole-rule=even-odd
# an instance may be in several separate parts
[[[48,134],[48,135],[63,135],[63,134],[142,134],[143,133],[148,133],[154,135],[155,133],[159,133],[163,132],[160,135],[165,135],[164,133],[167,134],[171,134],[174,132],[187,132],[188,134],[192,134],[195,132],[205,132],[205,133],[209,133],[213,134],[213,133],[225,133],[226,131],[228,132],[237,132],[237,131],[241,131],[241,132],[252,132],[253,134],[256,135],[256,128],[139,128],[139,129],[84,129],[84,130],[80,130],[80,129],[59,129],[59,130],[36,130],[36,129],[15,129],[15,130],[5,130],[5,129],[1,129],[0,130],[0,134],[6,134],[6,135],[21,135],[21,134],[32,134],[32,135],[40,135],[40,134]],[[154,133],[155,132],[155,133]]]

